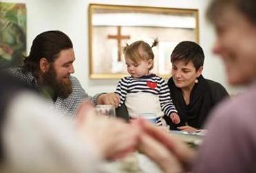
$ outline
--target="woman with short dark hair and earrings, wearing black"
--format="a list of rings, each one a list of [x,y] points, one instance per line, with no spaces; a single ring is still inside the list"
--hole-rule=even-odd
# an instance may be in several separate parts
[[[168,80],[168,87],[181,117],[177,129],[195,132],[202,128],[210,110],[228,96],[228,92],[221,84],[201,75],[204,51],[197,43],[182,41],[173,50],[170,61],[173,77]]]

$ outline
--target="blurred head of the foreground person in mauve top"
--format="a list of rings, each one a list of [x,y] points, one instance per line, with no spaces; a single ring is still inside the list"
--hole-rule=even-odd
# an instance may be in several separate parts
[[[217,34],[213,52],[224,61],[228,82],[252,82],[256,77],[256,1],[213,0],[207,17]]]

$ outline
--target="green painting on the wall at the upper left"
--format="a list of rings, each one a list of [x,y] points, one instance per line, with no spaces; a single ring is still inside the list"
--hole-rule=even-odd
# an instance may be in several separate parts
[[[26,6],[0,2],[0,68],[19,66],[26,56]]]

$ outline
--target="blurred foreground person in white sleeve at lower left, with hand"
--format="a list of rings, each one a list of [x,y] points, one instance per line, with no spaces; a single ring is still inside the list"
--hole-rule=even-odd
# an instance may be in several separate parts
[[[102,163],[135,150],[139,128],[95,116],[82,103],[75,123],[39,94],[0,73],[0,172],[102,172]]]

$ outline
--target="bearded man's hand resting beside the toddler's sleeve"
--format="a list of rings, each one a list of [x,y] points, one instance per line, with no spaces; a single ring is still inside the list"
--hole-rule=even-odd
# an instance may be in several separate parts
[[[98,105],[115,105],[115,108],[117,108],[119,103],[120,103],[119,95],[114,92],[100,94],[97,98]]]

